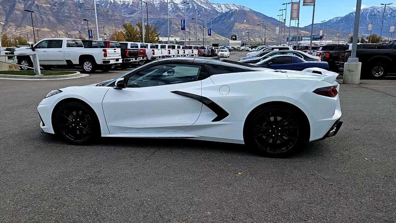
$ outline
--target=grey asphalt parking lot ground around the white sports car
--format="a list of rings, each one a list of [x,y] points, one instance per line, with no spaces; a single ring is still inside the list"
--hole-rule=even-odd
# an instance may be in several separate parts
[[[232,52],[236,60],[246,52]],[[339,133],[286,159],[244,145],[40,133],[53,81],[0,79],[0,222],[395,222],[396,81],[340,88]]]

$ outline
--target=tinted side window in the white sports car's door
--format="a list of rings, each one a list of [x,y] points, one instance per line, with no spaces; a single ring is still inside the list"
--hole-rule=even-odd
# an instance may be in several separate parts
[[[157,65],[129,77],[127,87],[153,87],[198,81],[200,69],[196,65]]]

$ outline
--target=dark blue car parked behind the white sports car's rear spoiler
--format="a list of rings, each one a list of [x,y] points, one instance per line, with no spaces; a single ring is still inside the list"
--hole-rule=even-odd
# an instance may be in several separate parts
[[[306,68],[318,67],[322,69],[329,69],[329,64],[327,62],[316,62],[309,61],[299,58],[293,55],[277,55],[269,57],[265,60],[261,60],[255,65],[270,69],[283,69],[283,70],[295,70],[302,71]]]

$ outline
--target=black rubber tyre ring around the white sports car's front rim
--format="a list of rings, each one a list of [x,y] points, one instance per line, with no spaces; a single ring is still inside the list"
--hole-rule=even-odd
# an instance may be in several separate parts
[[[59,119],[58,119],[58,117],[59,117],[61,111],[64,108],[68,107],[68,106],[79,106],[79,107],[81,107],[82,109],[86,110],[86,112],[89,114],[89,116],[90,116],[90,118],[92,120],[92,130],[93,131],[92,131],[91,135],[89,135],[89,137],[86,138],[82,142],[74,142],[74,141],[70,140],[69,138],[67,138],[66,136],[64,136],[62,134],[62,131],[61,131],[60,127],[59,127]],[[55,120],[54,121],[55,121],[55,123],[54,123],[55,126],[53,126],[53,129],[54,129],[55,135],[61,137],[63,140],[69,142],[70,144],[76,144],[76,145],[89,144],[89,143],[92,143],[93,140],[98,138],[98,136],[100,134],[100,131],[98,131],[98,129],[99,129],[99,121],[97,120],[96,115],[94,114],[93,110],[91,108],[87,107],[86,105],[84,105],[82,103],[79,103],[79,102],[67,102],[67,103],[61,105],[58,108],[58,110],[56,111]]]

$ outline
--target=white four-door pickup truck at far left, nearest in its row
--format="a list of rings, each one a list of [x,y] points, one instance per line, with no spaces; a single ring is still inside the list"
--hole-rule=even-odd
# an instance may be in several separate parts
[[[102,42],[103,43],[103,42]],[[48,38],[30,47],[17,48],[15,55],[37,54],[40,66],[49,70],[53,67],[81,66],[84,73],[95,72],[96,69],[109,71],[112,65],[122,63],[120,48],[104,48],[98,46],[84,48],[82,41],[71,38]],[[32,67],[31,56],[17,56],[17,63]],[[27,68],[21,67],[26,70]]]

